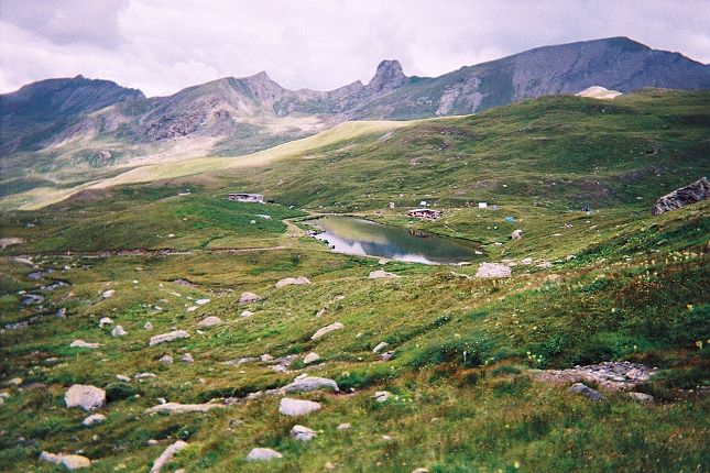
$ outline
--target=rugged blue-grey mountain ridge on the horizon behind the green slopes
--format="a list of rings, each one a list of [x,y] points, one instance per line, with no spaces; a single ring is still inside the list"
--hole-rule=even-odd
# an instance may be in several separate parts
[[[77,155],[102,165],[185,139],[194,139],[182,144],[185,153],[239,155],[348,120],[468,114],[590,86],[704,89],[710,66],[614,37],[539,47],[434,78],[408,77],[397,61],[383,61],[369,84],[330,91],[288,90],[263,72],[154,98],[81,76],[43,80],[0,96],[0,169],[17,165],[7,157],[22,152],[52,150],[73,165]]]

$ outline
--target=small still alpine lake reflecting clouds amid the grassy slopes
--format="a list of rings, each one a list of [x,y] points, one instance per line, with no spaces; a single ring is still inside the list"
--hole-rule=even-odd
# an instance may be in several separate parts
[[[481,258],[476,243],[419,230],[391,227],[356,217],[328,216],[308,220],[318,240],[337,253],[378,256],[424,264],[450,264]]]

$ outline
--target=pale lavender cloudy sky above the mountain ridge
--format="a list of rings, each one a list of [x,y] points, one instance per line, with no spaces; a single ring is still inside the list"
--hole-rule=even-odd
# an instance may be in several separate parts
[[[330,90],[382,59],[439,76],[610,36],[708,64],[710,0],[0,0],[0,92],[81,74],[164,96],[261,70]]]

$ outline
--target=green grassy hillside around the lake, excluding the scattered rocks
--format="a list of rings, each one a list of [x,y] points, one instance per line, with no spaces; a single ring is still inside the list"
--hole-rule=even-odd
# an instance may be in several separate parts
[[[0,470],[62,471],[39,462],[46,450],[80,452],[92,471],[146,472],[178,439],[189,447],[164,471],[710,470],[710,205],[649,215],[655,197],[707,174],[708,101],[707,94],[657,91],[614,102],[545,98],[385,139],[378,131],[325,143],[255,169],[6,212],[2,237],[25,242],[0,260],[8,394]],[[266,191],[277,204],[229,204],[228,188]],[[402,216],[425,198],[444,219]],[[500,208],[467,205],[478,200]],[[583,205],[594,212],[579,211]],[[332,254],[301,233],[306,212],[298,208],[474,240],[487,261],[516,265],[511,278],[478,279],[474,266]],[[517,228],[523,239],[513,241]],[[520,264],[525,257],[534,264]],[[380,268],[401,277],[368,278]],[[40,280],[28,278],[36,271],[45,272]],[[275,287],[292,276],[312,284]],[[67,285],[40,288],[57,280]],[[116,294],[103,298],[107,289]],[[23,305],[22,290],[45,300]],[[247,290],[262,300],[240,305]],[[66,318],[55,316],[59,308]],[[245,309],[254,315],[242,318]],[[207,316],[222,323],[198,331]],[[128,334],[99,328],[102,317]],[[8,327],[22,321],[29,324]],[[345,328],[312,341],[336,321]],[[151,336],[173,328],[190,338],[149,346]],[[101,346],[72,349],[75,339]],[[372,353],[383,341],[394,352],[389,361]],[[312,351],[321,360],[304,366]],[[182,362],[185,353],[195,361]],[[173,364],[160,362],[166,354]],[[296,359],[285,373],[260,360],[222,364],[263,354]],[[618,392],[592,403],[535,376],[621,360],[660,370],[636,388],[655,403]],[[133,380],[143,372],[156,376]],[[332,378],[341,392],[293,395],[323,405],[298,419],[278,414],[281,396],[245,399],[302,373]],[[105,422],[83,426],[86,414],[65,407],[75,383],[107,391]],[[378,391],[392,396],[378,403]],[[243,399],[206,414],[144,414],[157,398],[231,397]],[[342,422],[351,428],[338,430]],[[318,436],[293,439],[296,424]],[[254,447],[283,459],[248,463]]]

